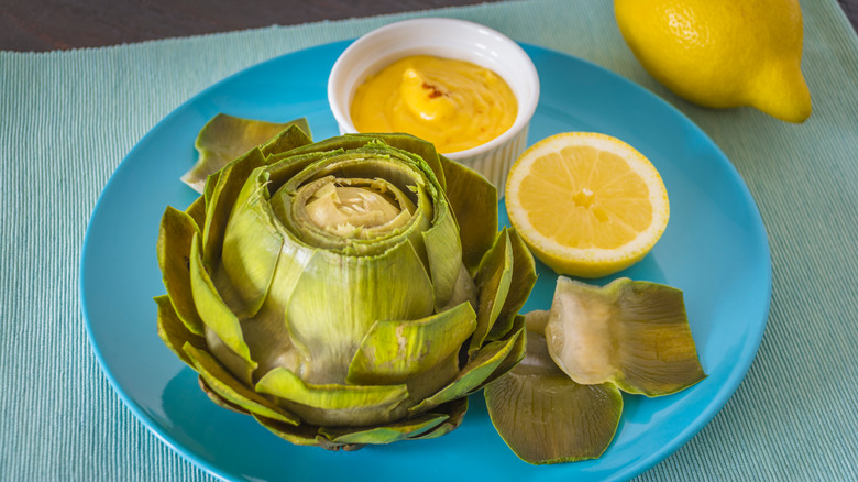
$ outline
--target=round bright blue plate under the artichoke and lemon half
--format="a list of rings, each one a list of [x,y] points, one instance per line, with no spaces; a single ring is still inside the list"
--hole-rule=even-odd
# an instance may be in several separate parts
[[[654,250],[620,273],[679,287],[708,377],[661,398],[626,396],[617,435],[597,460],[534,467],[497,436],[482,394],[462,426],[435,440],[329,452],[296,447],[251,417],[209,402],[196,374],[161,342],[153,296],[164,293],[155,255],[167,205],[196,197],[179,176],[194,140],[218,112],[286,121],[306,117],[314,138],[337,134],[328,73],[346,42],[285,55],[234,75],[176,109],[129,153],[89,221],[80,296],[89,339],[110,383],[174,450],[229,480],[624,480],[685,443],[724,406],[757,352],[771,298],[771,263],[759,211],[718,147],[671,106],[596,65],[526,46],[542,83],[529,142],[596,131],[636,146],[671,199]],[[506,222],[502,207],[502,222]],[[556,275],[542,265],[524,311],[548,308]],[[604,282],[604,281],[602,281]]]

